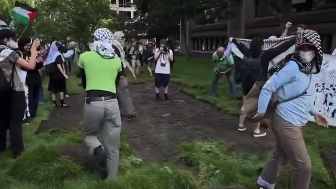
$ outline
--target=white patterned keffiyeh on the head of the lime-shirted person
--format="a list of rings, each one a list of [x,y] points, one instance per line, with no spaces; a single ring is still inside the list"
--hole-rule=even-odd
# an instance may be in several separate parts
[[[115,57],[114,49],[112,48],[113,34],[106,28],[97,29],[94,34],[94,42],[92,50],[100,54],[103,58],[113,59]]]

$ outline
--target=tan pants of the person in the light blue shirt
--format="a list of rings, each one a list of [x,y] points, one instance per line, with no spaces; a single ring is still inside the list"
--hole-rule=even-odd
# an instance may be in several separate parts
[[[277,145],[258,179],[258,184],[274,189],[282,166],[289,163],[292,169],[291,189],[308,189],[311,163],[303,140],[302,128],[294,126],[277,113],[274,113],[271,125]]]

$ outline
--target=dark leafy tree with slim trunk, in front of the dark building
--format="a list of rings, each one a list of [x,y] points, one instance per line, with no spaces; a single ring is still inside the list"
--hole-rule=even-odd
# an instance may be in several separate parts
[[[223,20],[231,15],[228,10],[229,3],[223,0],[135,0],[134,4],[142,16],[153,21],[150,26],[157,25],[158,28],[166,29],[170,23],[180,22],[184,44],[187,44],[185,28],[188,20],[204,15],[203,22],[206,23],[208,19]],[[151,30],[153,29],[156,28],[151,27]],[[189,59],[187,45],[183,45],[183,48],[186,58]]]

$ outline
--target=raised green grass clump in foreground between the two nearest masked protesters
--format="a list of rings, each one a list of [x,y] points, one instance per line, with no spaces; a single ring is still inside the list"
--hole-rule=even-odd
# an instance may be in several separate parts
[[[235,154],[224,142],[195,141],[177,149],[183,161],[199,167],[197,181],[204,188],[255,185],[257,170],[263,162],[261,157]]]

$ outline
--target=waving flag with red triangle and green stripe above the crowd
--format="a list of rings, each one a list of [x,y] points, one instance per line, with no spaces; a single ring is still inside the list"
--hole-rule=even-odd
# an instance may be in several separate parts
[[[32,8],[27,4],[15,1],[15,7],[10,11],[14,17],[15,23],[31,25],[38,12],[38,9]]]

